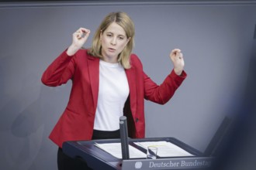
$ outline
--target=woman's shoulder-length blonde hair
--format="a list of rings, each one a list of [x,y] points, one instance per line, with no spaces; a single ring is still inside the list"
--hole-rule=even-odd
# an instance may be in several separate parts
[[[105,19],[103,19],[101,25],[93,36],[92,47],[88,50],[88,53],[102,59],[102,43],[100,41],[100,34],[101,32],[104,32],[112,22],[116,22],[116,24],[121,26],[126,32],[127,38],[130,39],[118,56],[118,62],[122,64],[123,68],[130,69],[130,54],[132,53],[134,46],[135,30],[133,21],[125,12],[111,12],[109,15],[106,15]]]

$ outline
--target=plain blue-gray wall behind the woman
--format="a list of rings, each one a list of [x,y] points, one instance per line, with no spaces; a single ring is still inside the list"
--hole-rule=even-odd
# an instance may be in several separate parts
[[[134,53],[157,83],[180,48],[188,78],[164,106],[145,101],[146,136],[175,137],[204,151],[223,117],[240,103],[256,23],[254,3],[0,4],[0,169],[57,169],[48,135],[67,104],[71,82],[45,87],[47,66],[79,27],[124,11],[136,26]],[[92,36],[85,47],[90,46]]]

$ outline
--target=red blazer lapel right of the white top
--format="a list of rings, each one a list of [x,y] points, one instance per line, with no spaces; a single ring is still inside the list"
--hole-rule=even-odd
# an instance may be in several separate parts
[[[132,111],[133,117],[136,114],[137,108],[137,88],[136,88],[136,80],[135,80],[135,70],[132,68],[126,70],[126,76],[130,88],[130,109]]]

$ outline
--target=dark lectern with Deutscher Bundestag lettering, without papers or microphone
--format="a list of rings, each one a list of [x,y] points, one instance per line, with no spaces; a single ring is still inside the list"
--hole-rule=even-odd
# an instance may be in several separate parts
[[[188,151],[192,155],[189,157],[164,157],[157,158],[156,160],[140,158],[129,160],[122,160],[116,158],[106,151],[95,146],[95,143],[116,143],[120,142],[120,139],[107,139],[107,140],[92,140],[92,141],[66,141],[63,145],[63,151],[65,154],[72,158],[81,158],[85,160],[89,167],[93,169],[192,169],[192,168],[207,168],[211,163],[209,157],[204,157],[203,154],[195,148],[186,145],[182,141],[176,138],[143,138],[143,139],[129,139],[129,145],[138,148],[140,151],[146,153],[144,148],[140,148],[133,142],[142,141],[168,141],[185,151]]]

